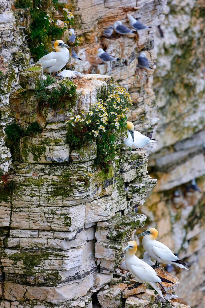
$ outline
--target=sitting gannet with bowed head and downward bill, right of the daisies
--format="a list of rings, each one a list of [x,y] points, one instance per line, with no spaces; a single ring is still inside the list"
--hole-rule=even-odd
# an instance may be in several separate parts
[[[124,140],[124,145],[132,149],[142,149],[148,143],[154,143],[158,140],[152,139],[152,135],[149,137],[142,135],[140,132],[135,131],[132,122],[127,122],[127,139]]]

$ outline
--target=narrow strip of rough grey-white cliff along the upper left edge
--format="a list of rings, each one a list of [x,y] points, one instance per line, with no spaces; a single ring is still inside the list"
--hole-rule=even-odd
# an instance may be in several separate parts
[[[30,59],[25,45],[28,16],[23,10],[14,10],[12,5],[10,1],[0,2],[0,166],[3,172],[8,171],[10,159],[9,149],[4,145],[5,127],[11,121],[9,95],[18,84],[19,71],[28,66]]]

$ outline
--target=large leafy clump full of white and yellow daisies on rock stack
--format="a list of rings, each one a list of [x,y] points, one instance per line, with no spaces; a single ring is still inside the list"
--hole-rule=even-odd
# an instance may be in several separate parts
[[[120,134],[126,128],[128,107],[132,105],[130,95],[123,87],[112,85],[106,101],[100,100],[85,114],[80,111],[69,119],[67,143],[72,148],[80,148],[96,140],[96,163],[105,166],[120,151]]]

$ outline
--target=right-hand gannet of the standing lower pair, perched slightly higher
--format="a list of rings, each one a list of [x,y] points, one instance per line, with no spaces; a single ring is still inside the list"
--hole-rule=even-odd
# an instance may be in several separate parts
[[[142,245],[144,249],[148,252],[150,257],[156,260],[154,267],[159,267],[160,263],[171,263],[175,264],[181,268],[188,270],[183,261],[179,260],[177,256],[175,256],[171,250],[164,244],[155,241],[158,236],[158,231],[155,228],[149,228],[143,233],[139,234],[138,237],[143,236]],[[157,265],[158,263],[158,265]]]

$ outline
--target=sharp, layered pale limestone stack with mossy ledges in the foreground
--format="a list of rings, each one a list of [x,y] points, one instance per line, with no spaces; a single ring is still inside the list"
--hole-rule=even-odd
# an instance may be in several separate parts
[[[122,147],[105,172],[94,165],[95,143],[72,150],[65,142],[65,120],[104,99],[112,77],[85,75],[76,105],[57,111],[38,106],[39,78],[42,67],[31,66],[20,76],[23,88],[10,95],[16,123],[37,121],[42,132],[15,146],[6,142],[13,159],[7,180],[14,185],[0,200],[0,307],[92,307],[91,294],[110,282],[126,242],[144,225],[146,216],[133,209],[156,180],[147,174],[144,151]],[[93,174],[88,183],[81,180],[85,171]]]

